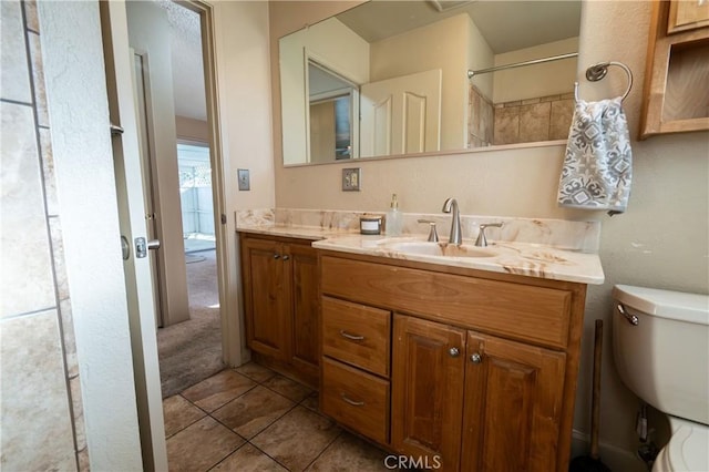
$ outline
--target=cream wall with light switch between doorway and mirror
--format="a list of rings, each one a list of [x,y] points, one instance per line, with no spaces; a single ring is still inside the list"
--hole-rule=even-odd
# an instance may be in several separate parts
[[[230,365],[248,359],[239,318],[240,279],[234,212],[275,205],[274,137],[271,135],[268,2],[214,1],[214,34],[218,126],[224,161],[226,294],[222,330],[229,336],[225,358]],[[279,134],[280,136],[280,134]],[[237,170],[250,171],[250,191],[239,192]],[[214,185],[214,183],[213,183]]]

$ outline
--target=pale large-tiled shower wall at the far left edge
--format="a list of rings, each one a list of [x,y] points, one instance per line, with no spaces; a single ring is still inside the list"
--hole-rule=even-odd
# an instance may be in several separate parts
[[[0,8],[0,469],[89,470],[37,3]]]

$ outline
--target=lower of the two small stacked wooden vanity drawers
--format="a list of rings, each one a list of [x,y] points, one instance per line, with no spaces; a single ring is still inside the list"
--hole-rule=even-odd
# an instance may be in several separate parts
[[[389,442],[389,381],[322,359],[322,412],[382,444]]]

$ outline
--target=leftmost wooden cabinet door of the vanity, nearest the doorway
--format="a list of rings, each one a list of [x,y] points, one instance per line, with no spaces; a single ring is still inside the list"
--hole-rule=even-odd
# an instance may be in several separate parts
[[[290,330],[290,283],[286,278],[282,245],[244,239],[244,295],[248,347],[274,359],[287,358]]]

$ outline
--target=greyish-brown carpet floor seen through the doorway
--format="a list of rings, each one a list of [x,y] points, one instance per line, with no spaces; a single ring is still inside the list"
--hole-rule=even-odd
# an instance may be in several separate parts
[[[185,260],[191,319],[157,330],[163,398],[224,369],[216,252],[191,253]]]

